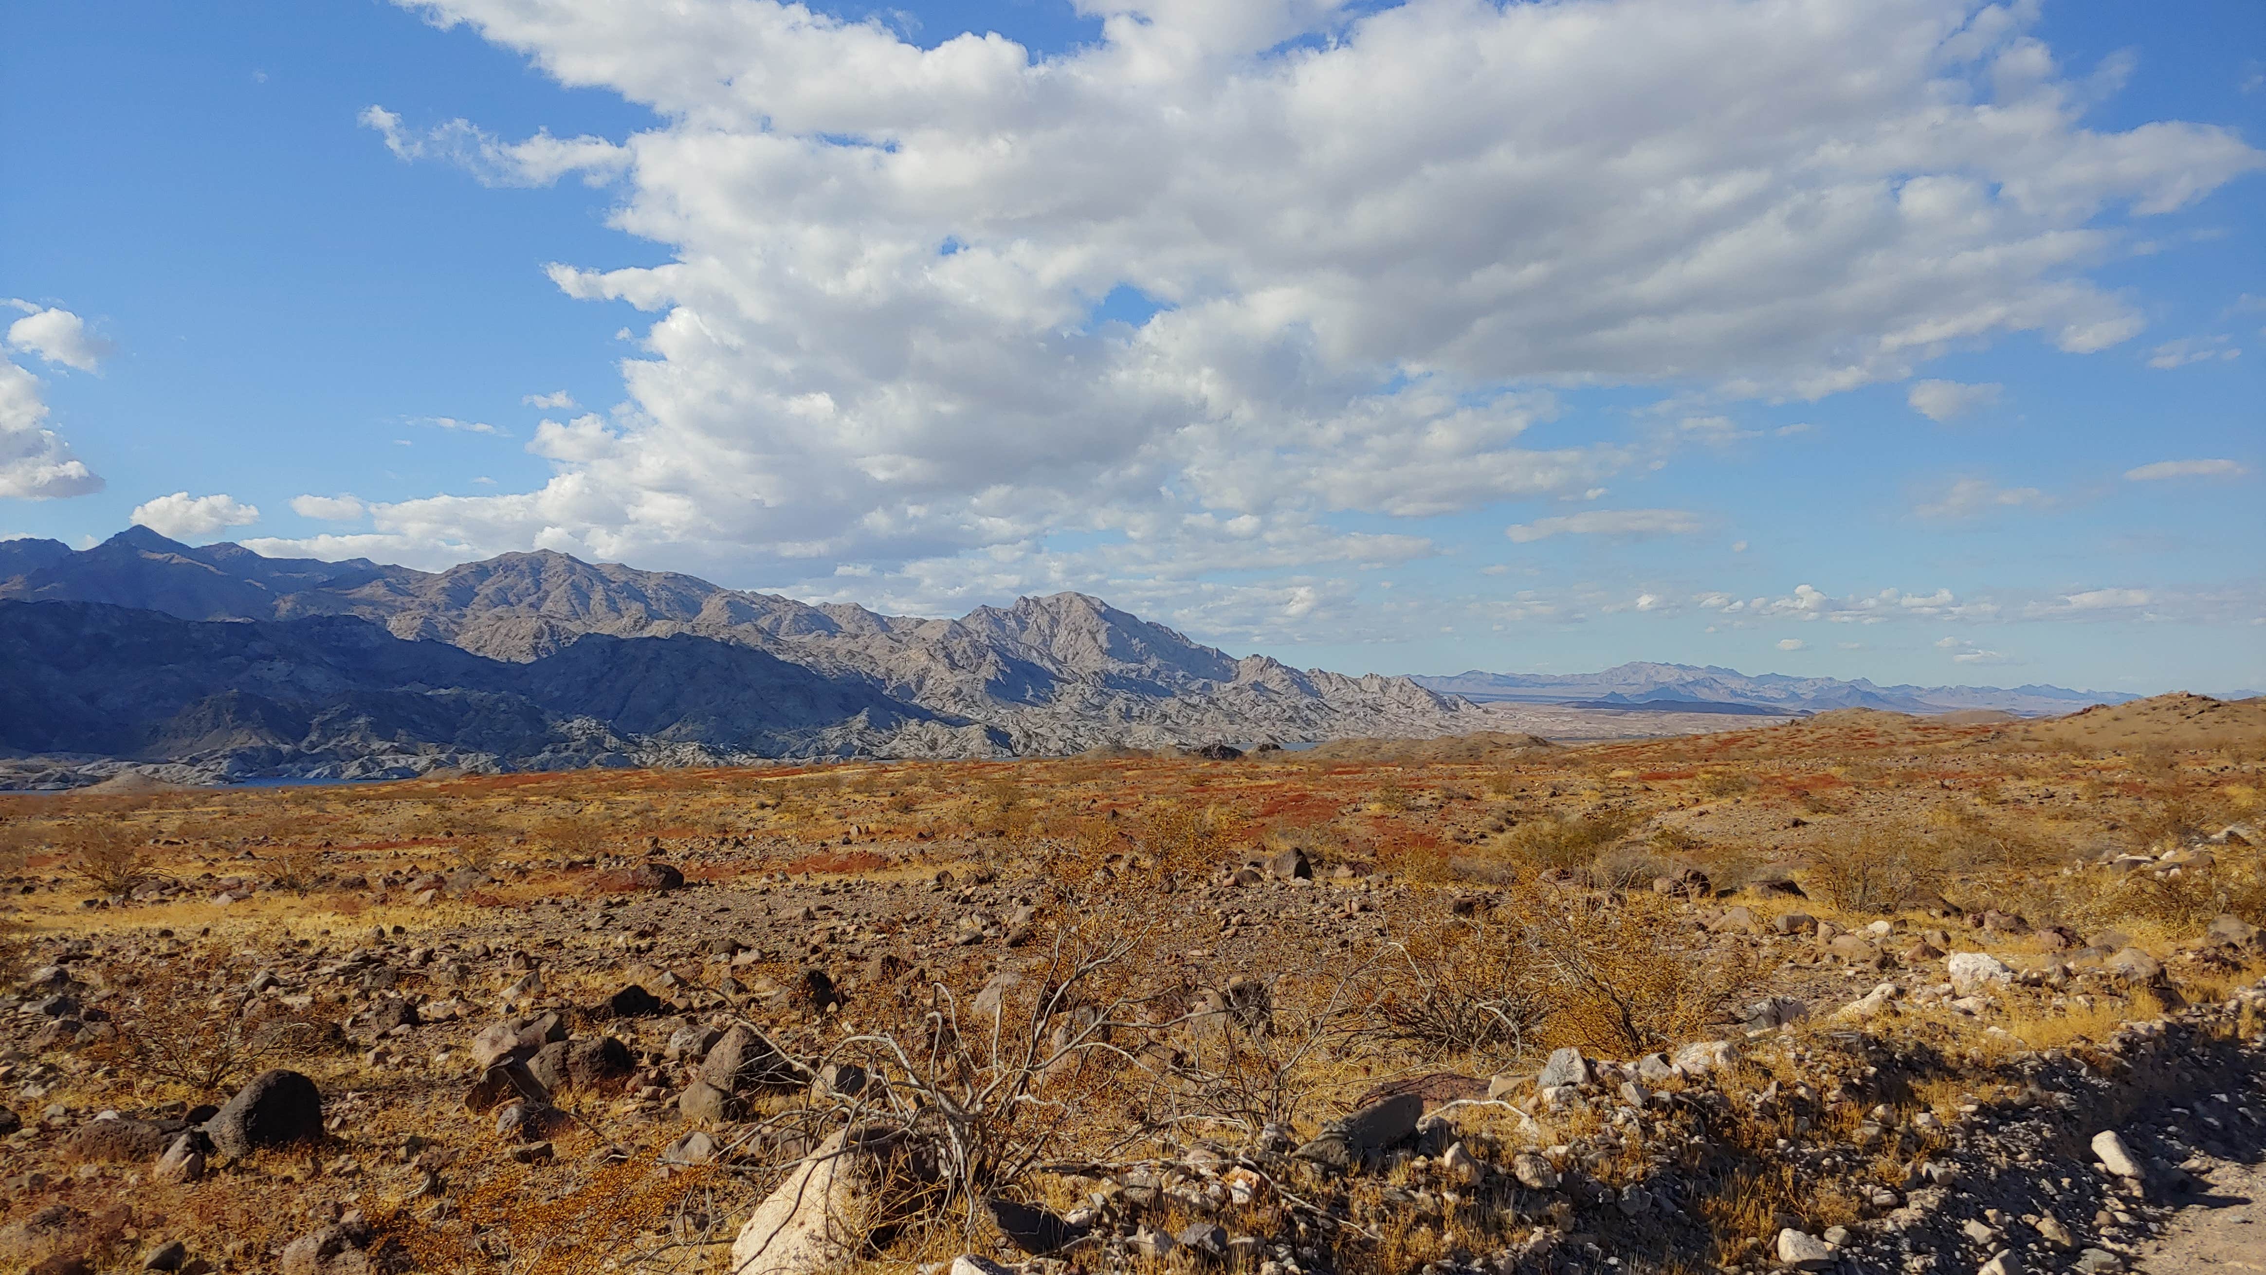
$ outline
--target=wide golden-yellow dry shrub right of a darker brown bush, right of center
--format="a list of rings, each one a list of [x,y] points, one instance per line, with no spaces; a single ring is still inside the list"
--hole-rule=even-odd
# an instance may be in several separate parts
[[[1745,951],[1677,942],[1681,917],[1654,895],[1523,890],[1498,915],[1550,1044],[1634,1058],[1706,1035],[1756,985]]]

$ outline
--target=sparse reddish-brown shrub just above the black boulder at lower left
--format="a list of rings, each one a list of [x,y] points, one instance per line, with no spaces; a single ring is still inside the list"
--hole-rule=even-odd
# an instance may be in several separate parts
[[[338,1024],[290,1010],[279,1001],[240,1001],[240,983],[211,951],[138,967],[113,965],[104,983],[120,987],[111,1001],[116,1035],[93,1046],[111,1062],[199,1096],[224,1096],[265,1067],[310,1058],[342,1042]]]

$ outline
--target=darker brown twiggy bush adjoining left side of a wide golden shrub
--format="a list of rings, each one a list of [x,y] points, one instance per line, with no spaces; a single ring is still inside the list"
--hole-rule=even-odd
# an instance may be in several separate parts
[[[1378,962],[1369,1035],[1425,1055],[1518,1058],[1543,1021],[1541,990],[1509,935],[1439,922]]]

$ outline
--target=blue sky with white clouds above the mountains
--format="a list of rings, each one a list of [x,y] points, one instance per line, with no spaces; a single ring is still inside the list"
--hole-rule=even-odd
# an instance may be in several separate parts
[[[0,537],[2266,688],[2266,7],[0,7]]]

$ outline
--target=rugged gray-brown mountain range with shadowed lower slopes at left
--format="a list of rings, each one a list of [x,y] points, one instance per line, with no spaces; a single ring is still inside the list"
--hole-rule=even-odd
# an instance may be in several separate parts
[[[0,632],[14,673],[0,747],[186,765],[181,777],[1065,754],[1486,725],[1405,677],[1235,659],[1083,593],[906,618],[560,553],[426,573],[193,548],[147,528],[77,553],[5,541]]]

